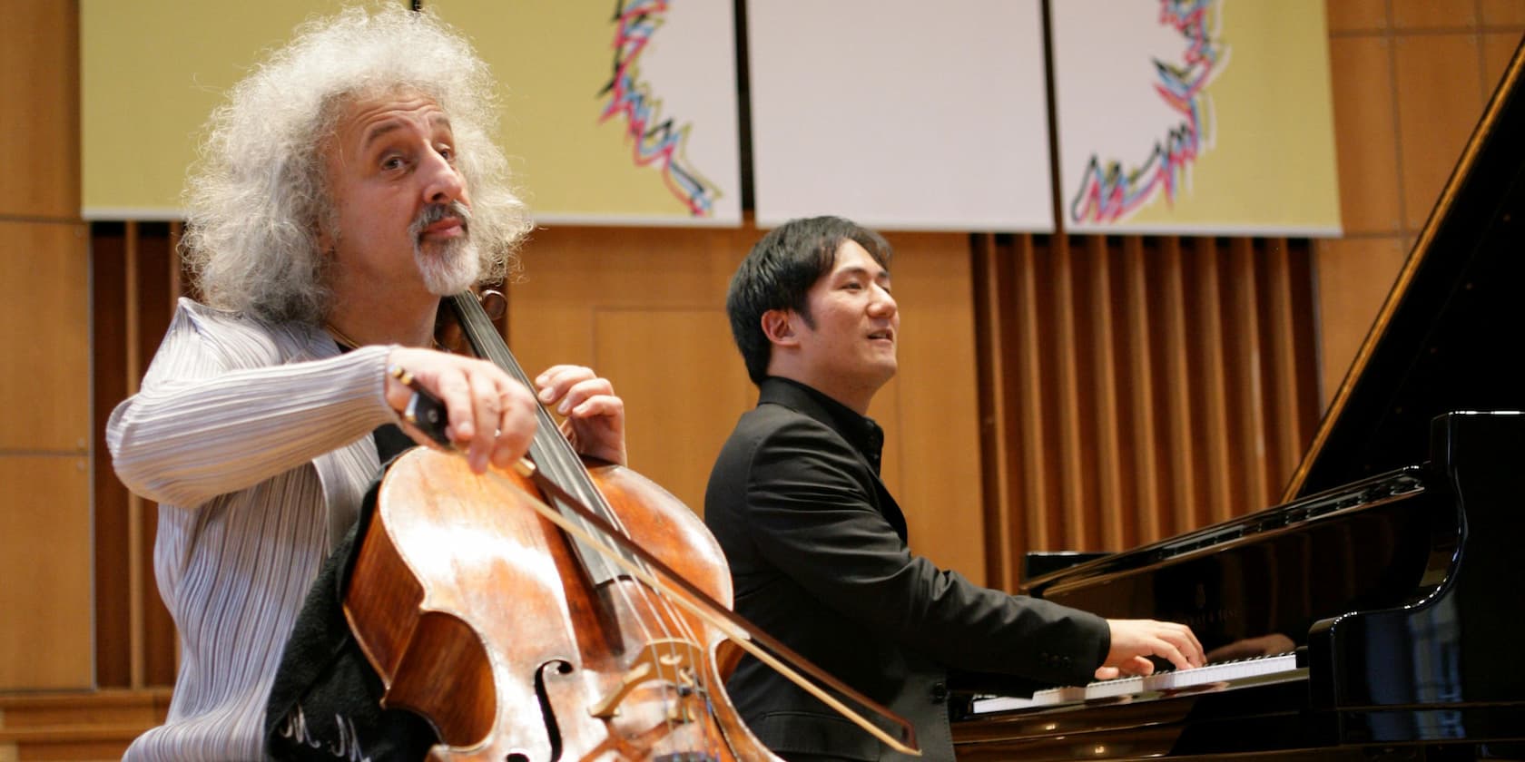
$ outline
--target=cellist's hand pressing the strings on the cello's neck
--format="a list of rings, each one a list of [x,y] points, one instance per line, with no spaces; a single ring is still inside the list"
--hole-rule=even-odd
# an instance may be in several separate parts
[[[566,416],[561,433],[572,448],[625,465],[625,401],[615,384],[583,366],[552,366],[535,376],[540,401]]]

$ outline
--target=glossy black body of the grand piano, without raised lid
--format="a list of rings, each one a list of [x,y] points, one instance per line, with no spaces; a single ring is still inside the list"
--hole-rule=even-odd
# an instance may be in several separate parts
[[[955,724],[959,759],[1525,753],[1501,745],[1525,741],[1525,651],[1510,628],[1525,590],[1525,415],[1444,415],[1429,439],[1423,465],[1028,590],[1107,617],[1190,622],[1234,657],[1295,648],[1298,669],[970,715]]]

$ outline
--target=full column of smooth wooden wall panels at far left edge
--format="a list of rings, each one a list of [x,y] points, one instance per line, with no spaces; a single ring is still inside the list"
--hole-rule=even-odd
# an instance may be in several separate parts
[[[0,690],[95,678],[75,3],[0,0]]]

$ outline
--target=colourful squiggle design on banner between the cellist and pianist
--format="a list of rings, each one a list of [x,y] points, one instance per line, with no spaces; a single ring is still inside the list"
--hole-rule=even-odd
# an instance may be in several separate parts
[[[634,142],[636,166],[657,165],[662,181],[688,206],[689,213],[708,216],[714,213],[720,189],[686,166],[683,143],[692,125],[674,126],[671,117],[659,120],[662,102],[651,98],[648,84],[637,81],[640,53],[662,26],[662,14],[666,11],[666,0],[616,0],[613,20],[619,29],[615,35],[615,72],[598,93],[608,96],[598,120],[602,123],[615,114],[624,114],[625,134]]]

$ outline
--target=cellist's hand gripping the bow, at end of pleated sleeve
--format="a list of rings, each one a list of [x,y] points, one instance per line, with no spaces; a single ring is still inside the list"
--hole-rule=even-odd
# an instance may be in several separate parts
[[[465,451],[476,472],[488,463],[512,466],[529,451],[535,436],[535,398],[503,369],[486,360],[436,352],[433,349],[398,347],[387,355],[387,364],[403,367],[413,381],[445,405],[450,421],[445,434]],[[390,373],[386,378],[386,401],[403,411],[413,390]],[[413,427],[403,427],[415,442],[438,447]]]

